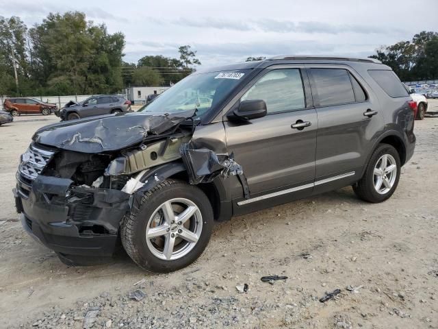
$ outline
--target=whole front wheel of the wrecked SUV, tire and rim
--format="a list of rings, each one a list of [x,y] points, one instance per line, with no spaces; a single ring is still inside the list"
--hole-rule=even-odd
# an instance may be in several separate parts
[[[144,193],[138,210],[125,217],[121,239],[137,265],[165,273],[201,256],[213,224],[211,204],[200,188],[166,180]]]

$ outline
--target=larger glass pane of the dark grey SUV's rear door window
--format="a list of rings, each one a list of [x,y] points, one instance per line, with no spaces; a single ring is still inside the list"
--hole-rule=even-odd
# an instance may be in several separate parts
[[[320,106],[355,102],[355,93],[347,70],[311,69],[311,75]]]

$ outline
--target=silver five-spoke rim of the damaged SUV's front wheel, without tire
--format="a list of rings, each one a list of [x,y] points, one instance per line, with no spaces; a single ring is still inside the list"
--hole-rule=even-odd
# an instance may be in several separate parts
[[[181,258],[194,248],[203,230],[201,210],[189,199],[170,199],[161,204],[146,226],[146,244],[163,260]]]

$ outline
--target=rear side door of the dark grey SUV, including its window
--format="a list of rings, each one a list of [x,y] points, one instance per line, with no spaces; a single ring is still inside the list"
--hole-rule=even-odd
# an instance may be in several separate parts
[[[315,193],[320,193],[361,177],[384,121],[371,88],[350,66],[307,68],[318,114]]]

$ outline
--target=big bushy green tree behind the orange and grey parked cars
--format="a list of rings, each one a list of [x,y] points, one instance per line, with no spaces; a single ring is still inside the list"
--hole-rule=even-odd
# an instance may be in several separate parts
[[[49,93],[113,93],[123,87],[125,36],[82,12],[49,14],[29,31],[34,77]]]

